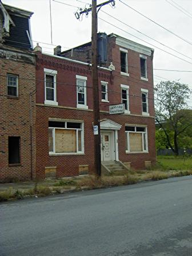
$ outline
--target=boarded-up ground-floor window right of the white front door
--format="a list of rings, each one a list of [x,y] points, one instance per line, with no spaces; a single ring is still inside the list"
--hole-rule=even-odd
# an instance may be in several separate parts
[[[148,151],[147,127],[125,126],[126,153],[142,153]]]

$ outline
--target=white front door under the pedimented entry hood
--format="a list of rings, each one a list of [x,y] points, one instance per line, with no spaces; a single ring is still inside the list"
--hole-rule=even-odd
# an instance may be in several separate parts
[[[113,132],[101,132],[101,161],[114,161]]]

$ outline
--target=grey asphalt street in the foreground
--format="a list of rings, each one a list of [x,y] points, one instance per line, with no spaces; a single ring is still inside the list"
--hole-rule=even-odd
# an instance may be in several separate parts
[[[1,256],[191,256],[192,176],[0,204]]]

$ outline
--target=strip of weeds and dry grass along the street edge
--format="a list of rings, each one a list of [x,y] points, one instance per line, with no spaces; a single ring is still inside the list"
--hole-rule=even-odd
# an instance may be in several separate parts
[[[111,173],[97,179],[92,175],[86,177],[62,178],[46,181],[30,181],[15,183],[0,183],[0,202],[13,199],[23,199],[29,197],[42,197],[70,191],[82,191],[90,189],[101,189],[112,186],[131,185],[141,181],[157,181],[170,177],[180,177],[191,175],[192,171],[124,171],[121,174]]]

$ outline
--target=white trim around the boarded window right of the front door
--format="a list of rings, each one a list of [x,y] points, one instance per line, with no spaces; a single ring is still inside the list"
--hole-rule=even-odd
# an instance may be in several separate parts
[[[126,139],[127,139],[127,150],[126,153],[127,154],[146,154],[149,153],[149,149],[148,149],[148,133],[147,133],[147,126],[143,125],[129,125],[129,126],[134,126],[135,127],[135,131],[125,131],[126,133]],[[145,128],[145,131],[136,131],[136,127],[143,127]],[[130,151],[130,144],[129,144],[129,133],[141,133],[142,134],[142,149],[143,151]],[[146,150],[144,150],[144,136],[143,134],[146,134]]]

